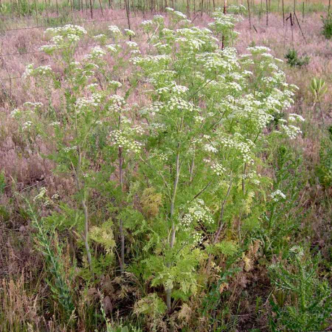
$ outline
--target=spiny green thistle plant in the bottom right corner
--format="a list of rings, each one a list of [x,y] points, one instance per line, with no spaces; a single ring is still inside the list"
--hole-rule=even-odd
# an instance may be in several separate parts
[[[299,246],[290,248],[287,265],[269,268],[277,291],[285,293],[283,303],[271,299],[276,319],[271,317],[272,331],[322,331],[332,310],[331,288],[327,280],[317,278],[318,260],[304,257]]]

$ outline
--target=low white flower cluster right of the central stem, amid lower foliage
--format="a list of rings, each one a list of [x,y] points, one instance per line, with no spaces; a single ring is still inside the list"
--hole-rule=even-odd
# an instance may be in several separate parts
[[[209,226],[214,223],[214,220],[205,202],[201,199],[196,199],[190,204],[188,212],[183,216],[180,222],[184,231],[190,231],[190,229],[195,227],[199,222],[205,226]]]

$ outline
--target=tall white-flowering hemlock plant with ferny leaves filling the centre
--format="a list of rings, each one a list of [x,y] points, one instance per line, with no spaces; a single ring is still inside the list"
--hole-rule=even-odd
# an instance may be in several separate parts
[[[277,187],[269,192],[258,166],[261,152],[296,137],[304,120],[283,119],[296,87],[286,82],[282,61],[267,47],[242,55],[231,47],[239,18],[219,9],[200,28],[167,10],[167,20],[156,15],[141,31],[109,27],[79,62],[75,51],[87,32],[71,25],[47,29],[50,43],[41,49],[61,74],[28,65],[25,77],[45,88],[49,105],[26,103],[12,112],[29,139],[38,133],[52,142],[57,171],[75,179],[78,215],[68,227],[81,235],[91,276],[91,245],[110,255],[116,250],[122,271],[158,290],[139,300],[135,312],[158,319],[166,307],[172,312],[172,299],[200,292],[215,256],[238,250],[248,234],[241,225],[253,213],[260,218],[253,210],[260,193],[275,210],[287,200]],[[146,36],[148,47],[125,41],[135,33]],[[54,90],[62,101],[56,111]],[[95,192],[112,202],[111,219],[89,232]],[[58,198],[42,197],[50,212],[57,205],[73,214]]]

